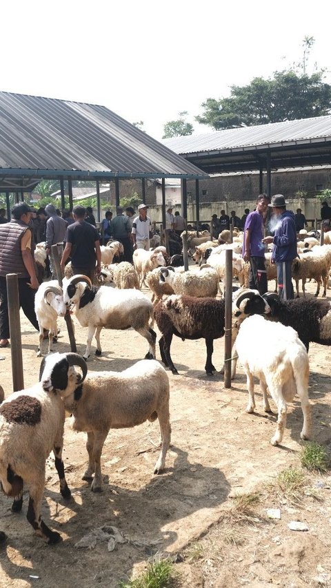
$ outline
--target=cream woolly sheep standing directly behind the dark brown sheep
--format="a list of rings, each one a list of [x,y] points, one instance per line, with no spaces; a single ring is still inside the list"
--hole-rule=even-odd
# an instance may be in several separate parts
[[[199,272],[185,271],[177,273],[168,266],[161,268],[160,284],[170,284],[175,294],[186,294],[194,297],[215,297],[219,292],[219,276],[212,267],[203,268]]]

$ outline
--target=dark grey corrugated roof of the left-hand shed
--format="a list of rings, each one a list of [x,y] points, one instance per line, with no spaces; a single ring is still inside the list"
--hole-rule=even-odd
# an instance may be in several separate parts
[[[106,107],[0,92],[0,174],[205,177]],[[57,172],[52,174],[52,171]]]

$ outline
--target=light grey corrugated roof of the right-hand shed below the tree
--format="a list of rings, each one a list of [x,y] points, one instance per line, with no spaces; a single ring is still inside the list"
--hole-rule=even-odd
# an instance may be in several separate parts
[[[178,154],[190,154],[197,151],[282,147],[284,143],[310,145],[314,140],[331,140],[331,115],[174,137],[163,139],[163,143]]]

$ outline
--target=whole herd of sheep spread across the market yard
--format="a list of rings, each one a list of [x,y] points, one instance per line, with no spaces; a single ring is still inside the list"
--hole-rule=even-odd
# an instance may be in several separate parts
[[[248,264],[241,258],[242,235],[234,231],[230,244],[228,231],[218,241],[210,235],[188,234],[188,251],[197,265],[184,271],[180,255],[171,260],[163,246],[151,251],[134,252],[134,264],[113,263],[123,253],[119,242],[110,242],[102,250],[103,267],[96,284],[84,275],[72,275],[66,266],[62,288],[57,280],[42,282],[35,297],[39,322],[37,355],[43,355],[43,332],[49,330],[48,355],[43,357],[39,382],[4,399],[0,387],[0,481],[3,492],[14,501],[19,512],[23,503],[23,484],[30,490],[27,518],[39,536],[57,543],[61,536],[41,519],[41,500],[45,486],[46,459],[54,452],[60,492],[70,498],[62,461],[63,427],[66,411],[72,414],[72,428],[87,433],[88,468],[83,479],[91,481],[91,490],[102,486],[101,452],[110,428],[133,427],[146,420],[159,420],[161,452],[154,467],[159,474],[165,467],[170,445],[169,378],[165,368],[177,374],[170,355],[173,335],[183,339],[205,339],[205,372],[212,375],[214,339],[225,332],[225,303],[217,297],[220,281],[225,287],[225,251],[232,249],[233,273],[241,288],[234,292],[232,308],[232,378],[237,358],[247,377],[247,412],[254,412],[254,377],[259,378],[263,406],[270,411],[267,390],[278,410],[277,430],[272,445],[281,443],[286,420],[286,404],[297,393],[303,410],[301,439],[311,432],[308,399],[310,342],[330,346],[331,303],[325,300],[330,277],[331,244],[325,235],[320,246],[317,234],[302,233],[298,243],[300,257],[293,262],[298,297],[281,302],[275,293],[259,295],[248,289]],[[274,266],[268,262],[268,280],[275,280]],[[46,260],[42,244],[35,260],[40,273]],[[206,263],[201,265],[202,262]],[[306,280],[317,281],[315,297],[305,297]],[[302,280],[303,296],[299,297]],[[112,282],[112,284],[111,284]],[[317,298],[323,282],[323,297]],[[140,288],[150,288],[152,300]],[[111,287],[114,286],[114,287]],[[71,308],[81,326],[88,329],[83,357],[76,353],[50,353],[57,337],[57,317]],[[165,368],[156,360],[157,333]],[[89,372],[92,337],[101,355],[101,329],[134,328],[148,342],[145,359],[123,372]],[[270,344],[263,345],[268,341]],[[261,344],[262,343],[262,344]],[[77,371],[77,368],[81,371]],[[6,536],[0,532],[0,541]]]

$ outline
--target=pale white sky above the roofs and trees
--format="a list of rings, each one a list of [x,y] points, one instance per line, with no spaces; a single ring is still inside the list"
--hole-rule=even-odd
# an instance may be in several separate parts
[[[106,106],[156,139],[206,98],[302,59],[331,70],[328,0],[17,0],[1,5],[0,90]],[[326,74],[331,83],[331,74]]]

